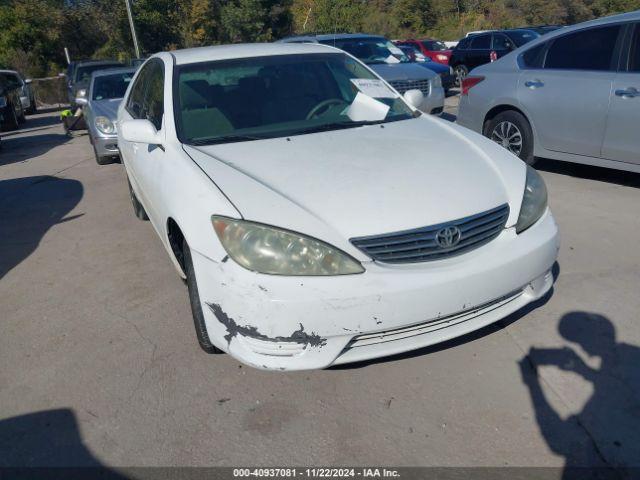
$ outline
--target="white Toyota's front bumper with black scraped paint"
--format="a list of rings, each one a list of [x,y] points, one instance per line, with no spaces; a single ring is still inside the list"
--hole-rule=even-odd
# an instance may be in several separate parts
[[[281,277],[192,258],[211,341],[257,368],[303,370],[415,350],[504,318],[549,291],[558,248],[547,211],[526,232],[505,229],[458,257],[371,262],[361,275]]]

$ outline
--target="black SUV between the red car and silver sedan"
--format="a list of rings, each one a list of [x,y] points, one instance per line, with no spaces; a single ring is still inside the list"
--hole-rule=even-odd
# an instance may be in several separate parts
[[[515,29],[470,35],[453,49],[449,65],[458,79],[464,78],[480,65],[502,58],[540,34],[533,30]],[[459,83],[459,80],[458,80]]]

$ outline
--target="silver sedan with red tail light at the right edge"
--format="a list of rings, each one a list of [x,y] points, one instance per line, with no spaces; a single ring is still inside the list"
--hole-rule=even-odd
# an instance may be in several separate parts
[[[473,70],[458,123],[530,164],[640,172],[640,12],[556,30]]]

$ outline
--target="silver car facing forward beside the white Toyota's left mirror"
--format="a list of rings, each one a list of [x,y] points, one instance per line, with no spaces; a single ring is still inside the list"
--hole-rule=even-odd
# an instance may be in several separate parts
[[[97,70],[91,75],[86,97],[76,99],[76,103],[83,106],[89,141],[98,165],[118,159],[118,106],[135,71],[136,68],[131,67]]]

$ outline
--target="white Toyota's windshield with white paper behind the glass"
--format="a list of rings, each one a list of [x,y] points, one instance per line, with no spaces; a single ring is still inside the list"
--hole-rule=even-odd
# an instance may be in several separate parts
[[[394,90],[341,53],[185,65],[174,78],[183,143],[286,137],[414,115]]]

